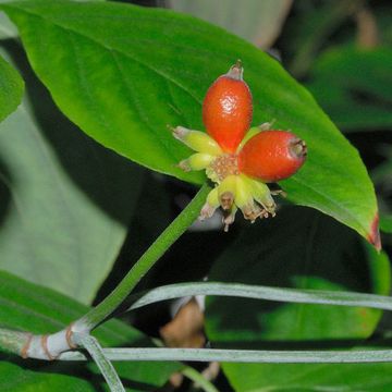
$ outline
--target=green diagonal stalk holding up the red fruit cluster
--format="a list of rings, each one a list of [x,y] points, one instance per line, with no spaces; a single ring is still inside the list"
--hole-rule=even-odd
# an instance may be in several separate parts
[[[74,331],[93,330],[126,299],[140,279],[195,221],[210,189],[209,185],[203,185],[193,200],[136,261],[119,285],[100,304],[74,323]]]

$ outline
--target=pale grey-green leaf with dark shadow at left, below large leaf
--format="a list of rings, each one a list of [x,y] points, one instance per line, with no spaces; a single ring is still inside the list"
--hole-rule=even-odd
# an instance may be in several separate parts
[[[8,45],[28,96],[0,124],[0,268],[89,303],[112,268],[142,172],[73,126]]]

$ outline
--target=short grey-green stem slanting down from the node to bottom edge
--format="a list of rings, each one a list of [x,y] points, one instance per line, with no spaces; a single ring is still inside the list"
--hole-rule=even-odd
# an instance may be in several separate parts
[[[110,391],[112,392],[125,392],[123,384],[117,373],[113,365],[105,355],[105,352],[98,341],[89,334],[75,334],[75,341],[79,346],[83,346],[87,350],[89,355],[91,355],[94,362],[99,367],[105,380],[107,381]]]

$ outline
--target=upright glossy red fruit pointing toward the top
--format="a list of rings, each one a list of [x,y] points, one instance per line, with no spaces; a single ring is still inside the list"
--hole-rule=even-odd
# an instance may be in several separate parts
[[[252,113],[252,94],[237,62],[208,89],[203,102],[203,122],[224,152],[235,152],[250,127]]]

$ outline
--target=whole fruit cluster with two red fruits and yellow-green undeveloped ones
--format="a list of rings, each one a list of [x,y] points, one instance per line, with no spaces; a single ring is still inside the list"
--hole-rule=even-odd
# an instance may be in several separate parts
[[[266,183],[293,175],[305,162],[306,145],[289,131],[271,130],[270,123],[250,127],[252,94],[243,81],[238,61],[209,87],[203,103],[207,134],[173,128],[173,135],[196,151],[180,162],[185,171],[206,170],[216,183],[200,211],[200,220],[223,209],[224,230],[240,208],[245,219],[275,215],[275,203]]]

